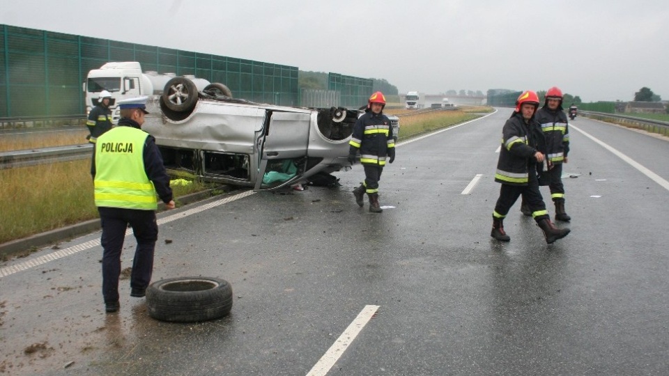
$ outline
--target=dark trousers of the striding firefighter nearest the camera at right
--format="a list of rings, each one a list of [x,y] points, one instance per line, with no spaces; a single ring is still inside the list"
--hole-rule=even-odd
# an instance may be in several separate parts
[[[533,170],[530,169],[530,171]],[[537,180],[537,175],[531,172],[528,185],[502,184],[500,187],[500,198],[497,199],[493,217],[506,217],[509,210],[511,210],[511,207],[521,195],[523,195],[523,201],[530,207],[532,217],[537,223],[541,221],[541,219],[549,218],[548,211],[546,210],[546,203],[544,203],[544,198],[541,197],[541,192],[539,192],[539,180]]]

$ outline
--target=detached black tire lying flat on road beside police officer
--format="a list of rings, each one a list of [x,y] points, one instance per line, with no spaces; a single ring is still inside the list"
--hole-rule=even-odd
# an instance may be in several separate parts
[[[223,279],[179,277],[146,289],[148,315],[156,320],[195,322],[222,318],[232,308],[232,287]]]

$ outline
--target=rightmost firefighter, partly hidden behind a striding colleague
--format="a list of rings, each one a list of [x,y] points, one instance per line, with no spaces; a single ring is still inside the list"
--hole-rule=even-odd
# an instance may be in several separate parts
[[[562,91],[553,86],[546,92],[544,107],[535,116],[546,138],[546,160],[551,189],[551,199],[555,203],[555,220],[569,222],[571,217],[564,209],[564,185],[562,184],[562,164],[569,159],[569,121],[562,109]],[[523,203],[524,204],[524,203]],[[521,205],[521,212],[530,215],[528,207]]]

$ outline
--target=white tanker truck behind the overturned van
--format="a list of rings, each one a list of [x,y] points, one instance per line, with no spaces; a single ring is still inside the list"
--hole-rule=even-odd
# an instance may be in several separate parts
[[[176,77],[174,73],[159,75],[158,72],[153,71],[142,72],[141,65],[137,61],[112,61],[105,63],[100,69],[91,70],[88,77],[86,77],[86,82],[84,82],[86,113],[89,113],[98,104],[100,91],[109,91],[109,93],[112,93],[109,109],[112,110],[112,123],[116,124],[118,123],[118,118],[121,117],[116,102],[142,95],[160,95],[167,81],[174,77]],[[204,90],[209,85],[209,81],[206,79],[198,79],[190,75],[184,77],[190,79],[199,91]],[[226,87],[222,86],[219,90],[227,90],[223,94],[231,96],[230,91]],[[175,95],[177,94],[175,93]]]

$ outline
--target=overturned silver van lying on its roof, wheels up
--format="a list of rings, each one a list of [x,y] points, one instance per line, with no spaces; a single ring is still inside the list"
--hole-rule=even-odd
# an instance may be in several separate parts
[[[198,91],[184,77],[150,98],[143,130],[168,170],[213,182],[279,189],[348,169],[358,109],[284,107],[231,97],[222,84]],[[399,119],[389,116],[397,139]]]

